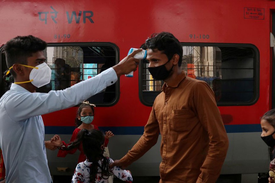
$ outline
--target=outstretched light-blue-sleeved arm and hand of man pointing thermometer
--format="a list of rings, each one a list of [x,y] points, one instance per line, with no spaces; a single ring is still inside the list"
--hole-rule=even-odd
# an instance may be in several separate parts
[[[10,99],[5,103],[5,109],[12,120],[20,121],[75,106],[114,84],[122,74],[136,70],[139,60],[133,56],[141,50],[136,50],[101,74],[65,90],[49,93],[17,92],[15,95],[10,95]]]

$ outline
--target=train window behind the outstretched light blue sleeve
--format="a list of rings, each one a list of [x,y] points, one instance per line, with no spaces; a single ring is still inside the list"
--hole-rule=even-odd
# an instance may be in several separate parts
[[[37,92],[47,93],[50,90],[63,90],[81,81],[100,74],[116,65],[119,60],[118,48],[111,43],[95,45],[51,45],[44,50],[46,63],[52,70],[51,81]],[[1,63],[5,63],[5,54],[1,54]],[[5,67],[2,67],[6,69]],[[5,70],[2,70],[2,73]],[[3,74],[2,74],[3,75]],[[2,91],[2,93],[5,91]],[[77,94],[76,94],[77,95]],[[104,91],[90,97],[88,101],[97,106],[112,106],[119,99],[119,82],[107,87]]]

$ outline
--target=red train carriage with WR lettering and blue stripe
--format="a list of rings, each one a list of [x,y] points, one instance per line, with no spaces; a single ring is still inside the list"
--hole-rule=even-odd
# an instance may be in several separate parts
[[[206,81],[229,137],[222,174],[242,174],[257,180],[268,170],[267,146],[260,138],[259,118],[275,105],[275,1],[4,1],[0,4],[0,45],[17,35],[32,34],[47,41],[52,78],[37,91],[60,90],[93,77],[119,62],[131,47],[144,48],[152,33],[171,32],[182,42],[182,70]],[[7,70],[1,51],[1,76]],[[141,61],[133,78],[89,98],[97,105],[95,124],[116,135],[110,140],[113,159],[127,153],[143,133],[162,81],[152,79]],[[1,96],[10,78],[1,79]],[[75,94],[77,95],[77,93]],[[68,141],[77,107],[43,115],[45,139],[54,134]],[[159,141],[160,143],[160,141]],[[130,169],[138,176],[158,176],[159,143]],[[71,175],[77,154],[57,158],[47,151],[52,175]],[[68,167],[59,172],[57,167]]]

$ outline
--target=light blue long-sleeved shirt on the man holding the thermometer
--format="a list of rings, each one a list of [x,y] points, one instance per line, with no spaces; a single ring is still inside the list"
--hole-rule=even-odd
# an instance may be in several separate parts
[[[50,183],[40,115],[75,106],[117,81],[109,68],[101,74],[49,93],[31,93],[12,84],[0,99],[0,146],[7,183]]]

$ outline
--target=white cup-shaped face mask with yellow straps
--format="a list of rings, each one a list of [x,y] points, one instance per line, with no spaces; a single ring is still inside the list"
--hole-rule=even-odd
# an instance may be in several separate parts
[[[51,81],[51,68],[44,62],[39,64],[36,67],[19,64],[21,66],[33,68],[30,73],[30,81],[15,82],[15,84],[29,83],[33,84],[37,88],[44,86],[45,84],[50,83]],[[9,69],[11,69],[11,66]]]

